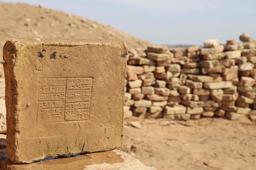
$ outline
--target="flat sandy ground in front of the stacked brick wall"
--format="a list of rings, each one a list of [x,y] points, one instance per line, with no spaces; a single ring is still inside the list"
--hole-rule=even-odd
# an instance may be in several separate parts
[[[249,119],[156,119],[125,124],[121,150],[159,170],[255,169],[256,124]]]

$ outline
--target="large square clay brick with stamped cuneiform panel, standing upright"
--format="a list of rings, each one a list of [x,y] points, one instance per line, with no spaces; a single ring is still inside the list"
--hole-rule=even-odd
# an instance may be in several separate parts
[[[114,40],[11,39],[3,49],[14,163],[119,148],[127,47]]]

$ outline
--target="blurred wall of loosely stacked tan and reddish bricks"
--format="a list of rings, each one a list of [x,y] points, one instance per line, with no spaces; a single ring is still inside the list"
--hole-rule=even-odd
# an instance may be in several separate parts
[[[206,40],[203,48],[130,50],[125,117],[255,117],[255,41],[247,34],[240,40],[225,45]]]

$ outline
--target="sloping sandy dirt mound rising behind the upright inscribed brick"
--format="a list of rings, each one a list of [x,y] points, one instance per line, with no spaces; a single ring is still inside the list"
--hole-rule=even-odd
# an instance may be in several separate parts
[[[116,39],[124,41],[128,48],[150,44],[96,21],[28,4],[0,3],[0,20],[1,48],[10,38]]]

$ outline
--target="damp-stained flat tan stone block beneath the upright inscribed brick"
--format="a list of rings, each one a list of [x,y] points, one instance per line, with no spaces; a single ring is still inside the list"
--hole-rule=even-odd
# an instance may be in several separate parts
[[[0,154],[0,166],[5,170],[30,170],[30,169],[140,169],[156,170],[142,164],[138,159],[132,158],[129,154],[112,150],[107,152],[96,152],[81,154],[78,156],[65,157],[61,159],[52,159],[50,161],[40,161],[32,164],[14,164],[6,155],[6,152]]]

